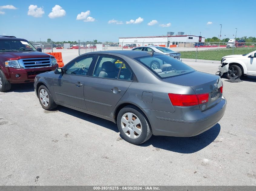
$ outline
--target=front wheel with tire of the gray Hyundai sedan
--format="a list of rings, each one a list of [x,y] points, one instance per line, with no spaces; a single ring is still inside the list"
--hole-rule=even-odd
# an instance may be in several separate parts
[[[42,108],[44,108],[45,110],[53,110],[58,106],[54,102],[52,94],[44,85],[41,85],[38,88],[37,95]]]

